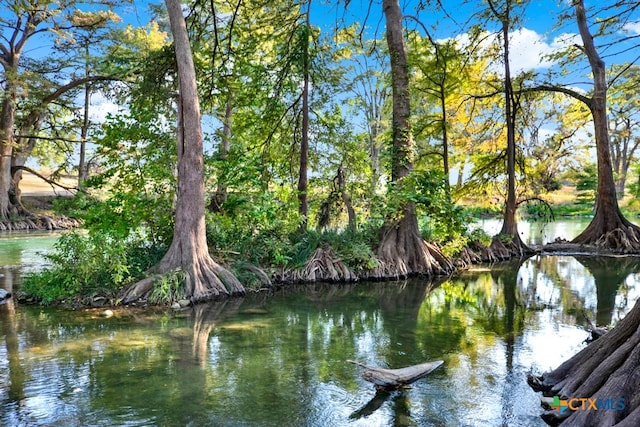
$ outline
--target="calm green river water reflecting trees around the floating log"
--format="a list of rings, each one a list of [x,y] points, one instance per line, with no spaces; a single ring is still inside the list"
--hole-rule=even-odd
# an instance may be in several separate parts
[[[527,241],[545,234],[521,230]],[[55,241],[24,238],[45,250]],[[41,262],[37,242],[8,240],[0,259]],[[640,296],[639,267],[632,257],[538,256],[437,282],[312,285],[108,318],[9,301],[0,425],[543,426],[526,374],[582,348],[585,317],[624,316]],[[0,286],[19,276],[3,271]],[[444,364],[385,394],[348,360]]]

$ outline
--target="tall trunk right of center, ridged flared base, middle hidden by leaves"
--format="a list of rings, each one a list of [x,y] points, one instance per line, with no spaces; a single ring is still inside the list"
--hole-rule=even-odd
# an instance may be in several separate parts
[[[402,12],[398,0],[384,0],[387,22],[387,45],[391,59],[393,157],[391,180],[399,183],[413,169],[411,137],[409,66],[402,36]],[[382,228],[378,249],[380,266],[375,277],[406,277],[412,274],[433,275],[453,269],[440,249],[427,244],[420,235],[415,206],[404,202],[400,217],[387,220]]]

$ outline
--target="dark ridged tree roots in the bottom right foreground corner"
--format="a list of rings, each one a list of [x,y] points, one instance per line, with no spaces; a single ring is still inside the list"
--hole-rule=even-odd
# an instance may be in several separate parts
[[[560,399],[623,399],[623,410],[547,411],[543,419],[551,425],[640,425],[640,300],[609,333],[557,369],[530,375],[528,382],[545,396]]]

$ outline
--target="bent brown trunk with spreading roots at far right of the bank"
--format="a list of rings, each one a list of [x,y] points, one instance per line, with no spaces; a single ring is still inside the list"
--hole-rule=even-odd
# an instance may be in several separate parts
[[[593,220],[573,242],[595,244],[615,250],[640,251],[640,228],[629,222],[622,215],[616,197],[611,153],[609,151],[605,63],[600,58],[593,36],[589,31],[584,1],[576,0],[574,6],[583,49],[593,72],[593,97],[589,107],[593,116],[596,139],[598,195]]]

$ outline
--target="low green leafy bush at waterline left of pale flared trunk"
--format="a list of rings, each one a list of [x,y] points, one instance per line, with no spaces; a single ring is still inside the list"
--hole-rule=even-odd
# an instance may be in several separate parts
[[[46,255],[52,266],[25,277],[21,290],[42,304],[112,295],[163,253],[164,248],[149,245],[141,236],[64,234]]]

